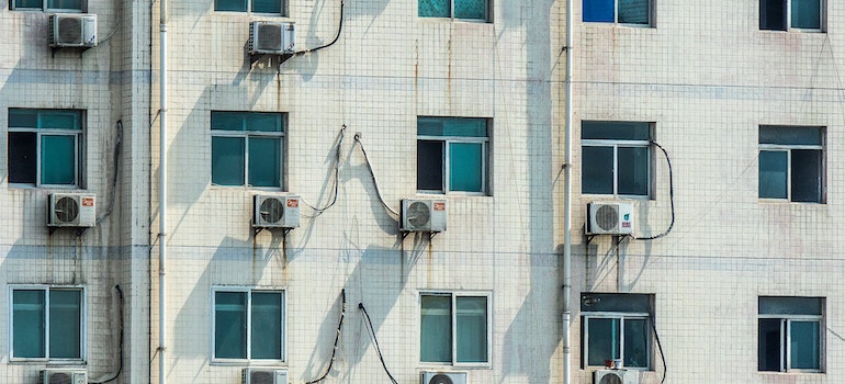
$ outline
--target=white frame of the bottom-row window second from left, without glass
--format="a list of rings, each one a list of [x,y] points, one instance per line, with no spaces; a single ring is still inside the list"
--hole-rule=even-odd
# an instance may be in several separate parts
[[[217,308],[216,308],[216,294],[218,292],[224,293],[243,293],[246,295],[247,302],[246,302],[246,335],[244,337],[246,338],[246,358],[245,359],[233,359],[233,358],[217,358],[216,355],[216,339],[217,339]],[[252,293],[279,293],[282,298],[282,305],[281,305],[281,327],[280,327],[280,359],[257,359],[252,358],[252,350],[251,350],[251,343],[252,343]],[[215,285],[211,289],[211,362],[212,363],[222,363],[222,364],[243,364],[243,363],[251,363],[251,362],[258,362],[261,364],[284,364],[288,362],[288,290],[282,287],[256,287],[256,286],[228,286],[228,285]]]

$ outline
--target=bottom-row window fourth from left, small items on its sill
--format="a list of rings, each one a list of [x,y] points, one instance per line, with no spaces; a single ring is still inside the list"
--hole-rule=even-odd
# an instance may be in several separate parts
[[[651,369],[653,295],[583,293],[583,360],[589,366],[621,359],[630,369]]]

